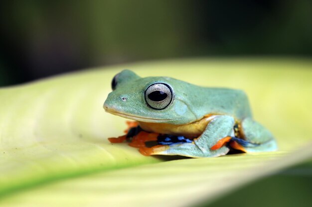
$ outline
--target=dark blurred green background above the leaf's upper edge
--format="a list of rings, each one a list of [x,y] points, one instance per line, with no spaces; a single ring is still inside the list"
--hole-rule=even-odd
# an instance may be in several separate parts
[[[311,0],[0,2],[0,85],[168,58],[312,56]]]

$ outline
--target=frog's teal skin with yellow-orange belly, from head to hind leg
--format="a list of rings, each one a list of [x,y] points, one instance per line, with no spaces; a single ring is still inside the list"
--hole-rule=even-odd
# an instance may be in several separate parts
[[[103,106],[106,112],[136,120],[146,132],[194,138],[192,143],[156,145],[148,155],[220,156],[228,153],[228,145],[211,148],[228,136],[250,143],[244,147],[247,152],[277,150],[272,134],[252,119],[241,90],[201,87],[170,77],[142,78],[130,70],[117,74],[112,86]],[[155,90],[166,94],[149,96]]]

